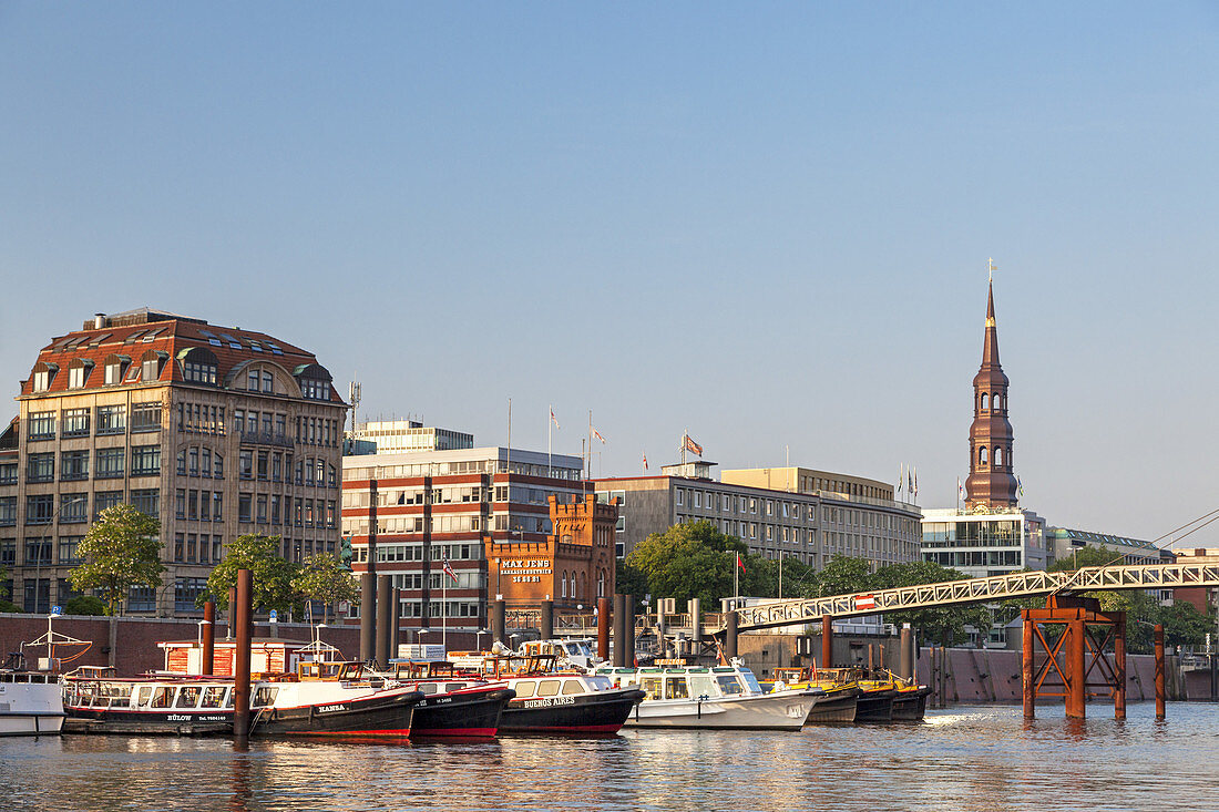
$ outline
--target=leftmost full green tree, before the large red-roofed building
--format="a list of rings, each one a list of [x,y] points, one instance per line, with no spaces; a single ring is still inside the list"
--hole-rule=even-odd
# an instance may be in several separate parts
[[[107,613],[116,614],[132,586],[161,585],[161,523],[130,505],[107,507],[94,522],[78,554],[84,561],[68,573],[72,588],[101,590]]]

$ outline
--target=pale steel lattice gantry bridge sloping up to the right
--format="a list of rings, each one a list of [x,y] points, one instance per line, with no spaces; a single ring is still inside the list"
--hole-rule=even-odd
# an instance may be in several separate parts
[[[1009,575],[946,580],[939,584],[878,589],[867,594],[783,600],[736,610],[736,629],[769,629],[903,610],[984,604],[1012,597],[1078,594],[1092,590],[1219,586],[1219,564],[1137,564],[1081,567],[1073,572],[1018,572]]]

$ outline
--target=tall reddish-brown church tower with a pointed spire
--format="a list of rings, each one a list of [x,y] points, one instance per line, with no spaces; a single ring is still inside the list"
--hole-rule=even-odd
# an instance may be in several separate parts
[[[986,339],[983,343],[983,363],[974,376],[974,423],[969,428],[969,478],[965,480],[965,507],[969,510],[1017,506],[1007,385],[1007,376],[998,362],[995,285],[989,283]]]

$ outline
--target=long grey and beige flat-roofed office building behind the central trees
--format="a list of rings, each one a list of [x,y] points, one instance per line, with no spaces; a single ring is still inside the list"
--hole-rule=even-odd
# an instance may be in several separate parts
[[[801,477],[808,483],[809,473],[823,472],[774,468],[770,482],[791,488],[766,488],[761,483],[767,480],[767,469],[724,472],[716,482],[711,474],[714,465],[688,462],[664,466],[658,477],[595,480],[599,500],[620,502],[617,555],[628,555],[651,533],[706,519],[745,541],[752,552],[798,558],[814,567],[835,555],[868,558],[878,566],[919,558],[919,508],[884,499],[883,483],[824,474],[825,482],[851,482],[878,495],[813,490],[816,484],[802,491]],[[728,482],[729,477],[737,482]]]

